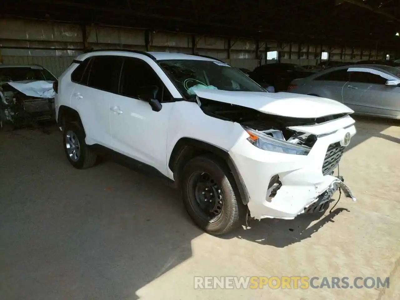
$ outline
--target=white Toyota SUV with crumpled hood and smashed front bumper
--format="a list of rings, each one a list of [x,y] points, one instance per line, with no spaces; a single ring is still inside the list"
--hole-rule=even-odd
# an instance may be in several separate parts
[[[356,133],[353,111],[334,100],[268,93],[210,57],[133,50],[82,54],[55,90],[72,166],[106,155],[167,178],[211,234],[248,214],[320,211],[339,188],[355,200],[333,176]]]

